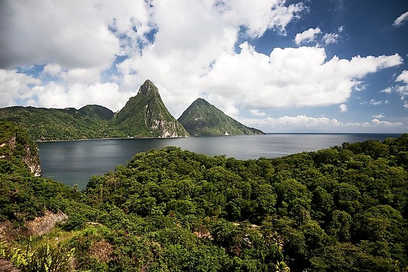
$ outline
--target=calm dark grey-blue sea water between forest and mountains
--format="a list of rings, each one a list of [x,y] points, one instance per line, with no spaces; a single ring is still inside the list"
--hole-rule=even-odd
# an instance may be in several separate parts
[[[179,146],[206,155],[237,159],[276,158],[303,151],[368,139],[384,140],[400,134],[267,134],[255,136],[199,136],[171,139],[107,139],[39,142],[42,175],[85,188],[91,175],[101,175],[126,164],[135,154],[151,148]]]

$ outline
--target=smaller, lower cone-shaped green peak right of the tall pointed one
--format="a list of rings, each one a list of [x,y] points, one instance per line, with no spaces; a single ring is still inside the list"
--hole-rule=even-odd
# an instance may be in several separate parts
[[[178,120],[191,135],[265,134],[244,126],[202,98],[195,100]]]

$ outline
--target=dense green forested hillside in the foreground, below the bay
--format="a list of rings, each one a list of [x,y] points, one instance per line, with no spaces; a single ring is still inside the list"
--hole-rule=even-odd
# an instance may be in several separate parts
[[[1,244],[8,259],[49,243],[93,271],[408,269],[408,134],[247,161],[166,147],[83,192],[0,162],[0,221],[68,215]]]

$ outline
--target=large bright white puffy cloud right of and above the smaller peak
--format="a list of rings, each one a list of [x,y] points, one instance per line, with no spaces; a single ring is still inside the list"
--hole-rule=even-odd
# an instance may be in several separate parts
[[[324,48],[274,48],[270,56],[248,43],[241,52],[218,58],[201,86],[209,99],[222,108],[219,97],[234,98],[244,108],[287,108],[344,103],[356,84],[368,73],[398,65],[399,55],[334,56],[325,62]],[[216,94],[216,95],[215,95]]]

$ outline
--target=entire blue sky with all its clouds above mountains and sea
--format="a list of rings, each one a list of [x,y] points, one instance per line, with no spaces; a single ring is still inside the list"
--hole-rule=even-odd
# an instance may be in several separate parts
[[[265,132],[408,132],[408,1],[0,0],[0,107],[120,110],[152,80]]]

